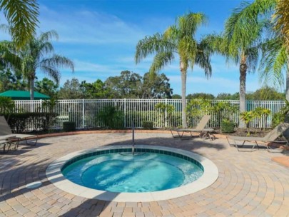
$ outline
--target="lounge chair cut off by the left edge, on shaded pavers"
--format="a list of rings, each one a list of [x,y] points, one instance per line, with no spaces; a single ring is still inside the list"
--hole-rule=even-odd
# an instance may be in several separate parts
[[[19,145],[19,141],[25,140],[26,145],[32,145],[36,146],[38,136],[37,135],[31,135],[31,134],[18,134],[18,133],[12,133],[10,126],[8,125],[6,119],[4,116],[0,116],[0,139],[6,140],[9,143],[15,143],[17,144],[17,147]],[[34,140],[34,143],[29,143],[28,140]]]

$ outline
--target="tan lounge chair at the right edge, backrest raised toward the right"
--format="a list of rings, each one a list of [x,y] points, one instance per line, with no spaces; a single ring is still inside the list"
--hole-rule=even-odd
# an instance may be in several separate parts
[[[286,131],[288,128],[289,123],[280,123],[278,126],[273,128],[272,131],[267,133],[264,137],[227,136],[227,141],[230,146],[235,146],[238,151],[255,151],[254,150],[255,146],[257,146],[258,149],[260,148],[260,146],[265,146],[265,148],[267,148],[267,151],[270,151],[270,146],[268,146],[270,142],[288,144],[287,140],[275,141],[279,136],[283,136],[284,131]],[[230,140],[233,140],[233,143],[230,143]],[[236,141],[243,141],[243,143],[238,144]],[[240,147],[243,147],[245,145],[246,141],[253,143],[253,147],[251,148],[251,150],[240,149]]]

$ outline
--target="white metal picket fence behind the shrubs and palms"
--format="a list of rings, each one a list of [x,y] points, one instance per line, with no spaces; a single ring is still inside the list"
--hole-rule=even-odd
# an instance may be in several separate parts
[[[35,112],[41,111],[43,106],[41,100],[35,101],[15,101],[16,112]],[[228,102],[231,106],[238,107],[239,101],[218,101],[213,100],[211,104],[218,102]],[[173,112],[161,111],[156,109],[156,104],[163,103],[165,105],[173,105]],[[272,126],[272,117],[274,113],[280,112],[285,105],[284,101],[246,101],[247,111],[253,111],[257,107],[269,109],[270,115],[263,117],[261,121],[257,119],[250,122],[251,127]],[[63,121],[74,121],[76,128],[96,128],[101,126],[98,113],[106,109],[107,106],[115,106],[121,111],[123,118],[123,126],[130,128],[132,123],[136,127],[142,127],[143,121],[153,121],[156,128],[181,126],[181,99],[75,99],[75,100],[59,100],[54,107],[57,113],[57,121],[53,128],[62,128]],[[188,126],[196,126],[203,113],[196,115],[188,115]],[[235,112],[222,111],[222,117],[227,117],[231,121],[238,123],[238,109]],[[219,127],[220,113],[211,112],[211,120],[209,127]]]

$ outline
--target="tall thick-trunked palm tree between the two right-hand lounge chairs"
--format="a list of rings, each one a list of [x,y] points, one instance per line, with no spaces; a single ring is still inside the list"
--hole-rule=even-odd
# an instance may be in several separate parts
[[[220,35],[210,35],[206,41],[211,51],[226,56],[227,61],[233,60],[239,65],[240,73],[240,113],[245,108],[245,81],[248,72],[254,72],[258,63],[259,45],[263,30],[267,24],[265,18],[260,19],[258,14],[270,9],[275,0],[256,0],[253,4],[243,2],[233,10],[225,22],[225,30]],[[265,4],[266,3],[266,4]],[[260,5],[261,6],[260,6]],[[265,5],[264,5],[265,4]],[[245,122],[240,118],[239,128],[245,128]]]

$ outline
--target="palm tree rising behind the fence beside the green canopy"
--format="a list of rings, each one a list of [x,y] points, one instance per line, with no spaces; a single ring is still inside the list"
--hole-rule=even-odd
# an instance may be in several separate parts
[[[21,71],[29,81],[30,99],[34,99],[34,80],[39,70],[59,83],[59,67],[68,67],[74,71],[73,62],[64,56],[54,54],[50,40],[58,38],[56,31],[47,31],[37,38],[31,39],[21,51]]]

